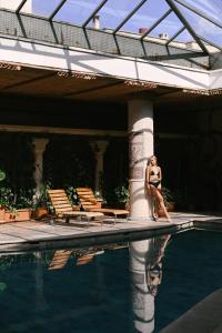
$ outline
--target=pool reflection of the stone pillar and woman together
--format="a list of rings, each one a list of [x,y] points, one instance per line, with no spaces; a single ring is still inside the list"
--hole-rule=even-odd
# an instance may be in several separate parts
[[[132,310],[137,332],[154,331],[154,296],[162,280],[161,259],[170,235],[130,243]]]

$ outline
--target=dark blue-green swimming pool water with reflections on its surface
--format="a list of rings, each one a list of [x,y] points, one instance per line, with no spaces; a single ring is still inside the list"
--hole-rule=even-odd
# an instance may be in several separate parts
[[[0,332],[159,332],[222,287],[221,239],[189,231],[117,250],[0,256]]]

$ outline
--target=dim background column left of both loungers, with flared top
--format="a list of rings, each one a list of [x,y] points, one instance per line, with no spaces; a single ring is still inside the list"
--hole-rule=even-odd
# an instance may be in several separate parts
[[[42,185],[42,161],[43,161],[43,153],[46,147],[49,142],[49,139],[33,139],[34,145],[34,181],[36,181],[36,195],[37,198],[40,196],[41,185]]]

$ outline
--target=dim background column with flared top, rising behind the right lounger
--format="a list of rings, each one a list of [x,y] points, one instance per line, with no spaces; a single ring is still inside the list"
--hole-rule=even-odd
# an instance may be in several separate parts
[[[100,188],[100,178],[103,174],[103,155],[107,150],[108,143],[108,141],[103,140],[90,142],[95,159],[94,190],[100,196],[102,196],[102,190]]]

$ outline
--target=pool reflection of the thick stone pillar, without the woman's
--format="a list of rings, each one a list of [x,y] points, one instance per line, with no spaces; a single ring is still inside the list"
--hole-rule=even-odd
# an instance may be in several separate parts
[[[132,310],[137,332],[151,333],[154,330],[154,296],[147,283],[147,259],[151,240],[130,244],[130,270],[132,275]]]

